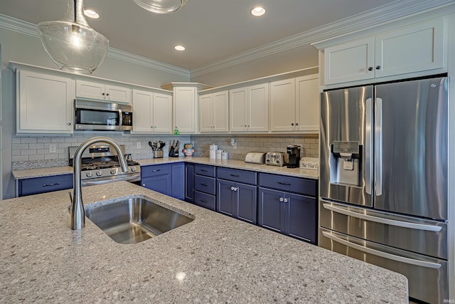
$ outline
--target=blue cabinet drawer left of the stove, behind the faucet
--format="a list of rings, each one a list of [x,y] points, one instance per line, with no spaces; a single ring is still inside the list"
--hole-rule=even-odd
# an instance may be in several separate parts
[[[73,174],[22,179],[18,182],[18,196],[53,192],[70,188],[73,188]]]

